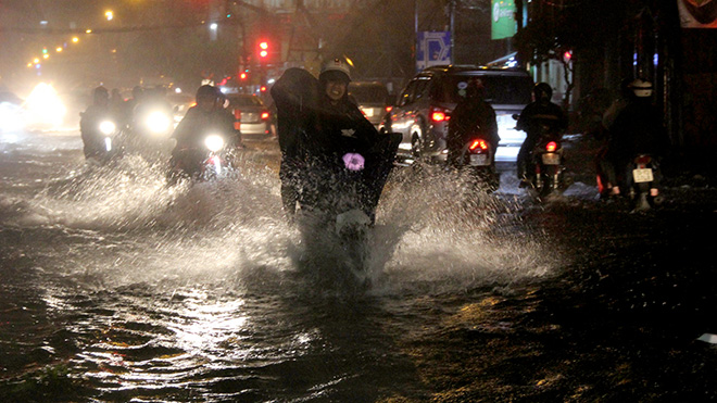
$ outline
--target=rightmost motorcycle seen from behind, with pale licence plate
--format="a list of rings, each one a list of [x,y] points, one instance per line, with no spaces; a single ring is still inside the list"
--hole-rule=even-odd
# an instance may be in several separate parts
[[[628,190],[636,211],[646,211],[659,203],[656,184],[658,176],[659,165],[650,154],[638,154],[627,164],[625,189]]]

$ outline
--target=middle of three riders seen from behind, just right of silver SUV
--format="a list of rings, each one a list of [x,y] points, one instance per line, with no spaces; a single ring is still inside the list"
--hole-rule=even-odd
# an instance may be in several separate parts
[[[532,150],[545,134],[544,126],[548,126],[550,133],[562,136],[568,124],[567,115],[563,112],[563,109],[551,102],[553,89],[550,84],[536,84],[532,93],[533,101],[520,112],[520,117],[518,117],[516,124],[516,129],[526,133],[526,140],[520,146],[517,159],[517,173],[521,186],[528,182],[526,177],[527,164],[531,160]]]

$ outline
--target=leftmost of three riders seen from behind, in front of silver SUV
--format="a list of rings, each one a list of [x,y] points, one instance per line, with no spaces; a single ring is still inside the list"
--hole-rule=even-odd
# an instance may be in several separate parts
[[[490,103],[485,101],[486,87],[480,78],[471,78],[466,83],[465,97],[463,97],[449,121],[449,133],[446,137],[448,163],[453,167],[463,165],[460,160],[463,147],[470,141],[470,136],[476,129],[486,136],[495,156],[495,149],[501,138],[498,136],[498,122],[495,111]]]

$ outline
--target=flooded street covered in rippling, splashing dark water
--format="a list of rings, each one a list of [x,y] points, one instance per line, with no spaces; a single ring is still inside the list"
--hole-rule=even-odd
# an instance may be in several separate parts
[[[630,214],[588,175],[538,204],[510,168],[478,198],[397,171],[355,294],[311,275],[345,263],[284,219],[271,144],[167,187],[76,131],[0,137],[3,402],[717,400],[714,188]]]

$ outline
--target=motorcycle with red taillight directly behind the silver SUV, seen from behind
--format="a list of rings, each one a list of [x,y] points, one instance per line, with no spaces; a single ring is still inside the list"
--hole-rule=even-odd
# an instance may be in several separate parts
[[[495,172],[495,150],[488,140],[474,136],[458,155],[458,165],[469,171],[475,186],[488,192],[498,190],[500,176]]]

